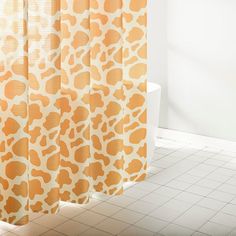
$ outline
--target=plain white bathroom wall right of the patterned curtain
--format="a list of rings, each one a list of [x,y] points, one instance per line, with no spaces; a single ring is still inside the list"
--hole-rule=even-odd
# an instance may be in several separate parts
[[[149,0],[160,126],[236,141],[236,0]]]

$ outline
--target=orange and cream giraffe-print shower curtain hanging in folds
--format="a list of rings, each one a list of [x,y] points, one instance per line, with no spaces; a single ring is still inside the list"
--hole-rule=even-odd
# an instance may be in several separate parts
[[[0,220],[146,175],[146,0],[1,0]]]

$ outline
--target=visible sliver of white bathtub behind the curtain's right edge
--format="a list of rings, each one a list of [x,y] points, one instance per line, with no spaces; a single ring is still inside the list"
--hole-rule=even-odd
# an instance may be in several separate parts
[[[155,149],[155,137],[159,125],[161,86],[152,82],[147,84],[147,161],[151,162]]]

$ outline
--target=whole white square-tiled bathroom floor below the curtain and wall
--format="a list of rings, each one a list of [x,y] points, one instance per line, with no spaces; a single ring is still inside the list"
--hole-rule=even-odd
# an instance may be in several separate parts
[[[148,179],[123,196],[62,203],[26,226],[0,222],[0,235],[236,236],[236,153],[207,146],[159,139]]]

